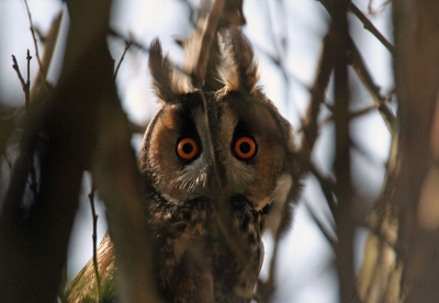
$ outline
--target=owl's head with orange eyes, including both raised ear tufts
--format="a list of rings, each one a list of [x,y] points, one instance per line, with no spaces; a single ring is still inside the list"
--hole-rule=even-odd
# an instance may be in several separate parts
[[[217,75],[224,87],[204,93],[178,76],[158,41],[151,44],[149,68],[162,105],[145,134],[140,169],[170,203],[215,200],[216,178],[227,198],[244,197],[251,209],[262,210],[291,170],[291,125],[256,86],[258,66],[240,31],[223,31],[218,40]]]

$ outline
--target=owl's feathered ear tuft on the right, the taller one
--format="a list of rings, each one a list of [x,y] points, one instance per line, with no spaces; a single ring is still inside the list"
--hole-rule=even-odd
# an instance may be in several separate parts
[[[257,89],[259,79],[258,64],[250,42],[236,27],[224,30],[218,35],[223,60],[218,65],[218,75],[228,90],[251,93]]]

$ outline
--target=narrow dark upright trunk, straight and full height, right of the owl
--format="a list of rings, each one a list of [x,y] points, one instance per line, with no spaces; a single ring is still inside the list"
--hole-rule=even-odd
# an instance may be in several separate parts
[[[336,158],[334,162],[334,171],[337,180],[335,194],[338,202],[338,207],[335,212],[334,218],[337,225],[339,243],[336,249],[336,268],[338,272],[341,303],[358,301],[353,273],[354,223],[351,216],[351,200],[353,192],[350,175],[349,144],[349,80],[347,58],[347,45],[349,40],[347,20],[348,3],[349,1],[347,0],[336,1],[333,15],[335,45],[338,46],[334,54],[334,120],[336,126]]]

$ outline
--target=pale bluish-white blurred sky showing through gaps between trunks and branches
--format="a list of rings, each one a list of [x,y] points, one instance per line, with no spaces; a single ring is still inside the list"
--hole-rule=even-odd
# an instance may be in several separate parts
[[[165,52],[169,52],[176,63],[182,63],[183,52],[176,40],[188,37],[193,30],[199,1],[183,0],[114,0],[111,26],[127,41],[133,40],[145,47],[159,37]],[[392,5],[386,0],[358,0],[354,4],[372,21],[378,30],[392,42]],[[32,21],[40,38],[44,38],[53,19],[63,10],[58,0],[29,0]],[[320,2],[315,0],[247,0],[244,2],[247,25],[244,32],[250,40],[260,61],[260,81],[266,94],[277,104],[296,131],[300,143],[301,121],[305,117],[311,100],[322,40],[327,33],[329,15]],[[353,15],[349,14],[350,32],[360,53],[386,97],[389,104],[396,110],[393,101],[394,79],[392,56],[389,50]],[[56,53],[48,81],[56,83],[63,60],[64,38],[68,29],[68,16],[64,14]],[[125,41],[110,36],[111,54],[119,63]],[[43,44],[38,41],[38,47]],[[30,21],[24,1],[0,1],[0,104],[10,108],[24,105],[21,83],[12,69],[11,55],[14,55],[22,72],[26,66],[26,49],[30,49],[31,81],[37,71],[35,46],[30,31]],[[158,104],[156,103],[147,69],[147,52],[131,46],[121,64],[116,83],[119,96],[130,119],[136,125],[147,125]],[[352,70],[350,70],[352,71]],[[368,215],[376,199],[385,172],[389,156],[390,134],[375,109],[369,92],[350,72],[351,110],[365,111],[352,120],[352,180],[354,202],[352,213],[357,222],[354,242],[356,270],[362,260],[362,249]],[[327,179],[333,178],[334,123],[331,121],[333,87],[329,86],[326,102],[319,116],[319,136],[313,150],[312,161]],[[138,150],[142,134],[133,135],[133,146]],[[12,161],[13,144],[1,155]],[[16,146],[15,146],[16,148]],[[0,182],[8,182],[8,161],[1,161]],[[5,187],[1,187],[5,188]],[[87,194],[90,192],[90,178],[86,173],[81,191],[81,204],[72,231],[67,265],[68,280],[75,278],[92,256],[92,216]],[[0,190],[0,194],[4,194]],[[106,232],[105,210],[98,202],[98,237]],[[274,302],[338,302],[338,282],[334,268],[334,251],[322,233],[319,222],[335,237],[334,220],[327,206],[317,179],[308,175],[303,194],[295,206],[293,227],[283,237],[277,256],[277,293]],[[264,236],[266,258],[272,255],[272,238]],[[261,279],[267,278],[269,262],[266,261]]]

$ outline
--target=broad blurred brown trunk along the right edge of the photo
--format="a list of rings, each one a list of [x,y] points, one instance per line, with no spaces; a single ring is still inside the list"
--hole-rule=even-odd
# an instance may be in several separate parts
[[[434,125],[439,87],[439,2],[394,1],[395,82],[398,98],[399,176],[390,203],[396,206],[397,243],[404,260],[399,298],[439,298],[438,142]]]

